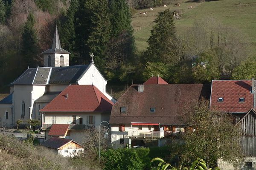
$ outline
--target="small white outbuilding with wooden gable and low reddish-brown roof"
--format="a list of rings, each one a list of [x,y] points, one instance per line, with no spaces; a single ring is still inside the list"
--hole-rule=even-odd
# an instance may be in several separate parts
[[[55,149],[64,157],[73,157],[84,152],[83,146],[71,139],[52,137],[42,143],[42,146]]]

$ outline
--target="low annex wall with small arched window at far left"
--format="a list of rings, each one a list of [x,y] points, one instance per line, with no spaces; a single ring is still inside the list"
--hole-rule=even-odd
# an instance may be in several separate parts
[[[8,119],[5,113],[8,112]],[[0,127],[12,127],[12,104],[0,104]]]

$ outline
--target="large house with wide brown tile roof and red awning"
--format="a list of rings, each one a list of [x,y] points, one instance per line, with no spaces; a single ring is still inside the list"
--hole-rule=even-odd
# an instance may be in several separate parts
[[[210,85],[152,82],[131,85],[113,105],[110,117],[113,146],[144,145],[148,139],[155,145],[165,145],[169,137],[184,130],[183,112],[197,105],[202,97],[210,97]]]

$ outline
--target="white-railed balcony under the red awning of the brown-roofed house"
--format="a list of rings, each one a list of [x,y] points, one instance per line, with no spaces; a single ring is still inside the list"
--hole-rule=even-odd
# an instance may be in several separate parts
[[[128,138],[142,138],[142,139],[160,139],[164,137],[164,131],[149,131],[145,132],[137,129],[128,130]]]

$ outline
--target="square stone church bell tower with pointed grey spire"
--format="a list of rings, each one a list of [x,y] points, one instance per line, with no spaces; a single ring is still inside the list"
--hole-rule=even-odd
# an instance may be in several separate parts
[[[70,52],[61,48],[57,25],[54,31],[52,48],[42,52],[44,55],[44,67],[64,67],[69,66]]]

